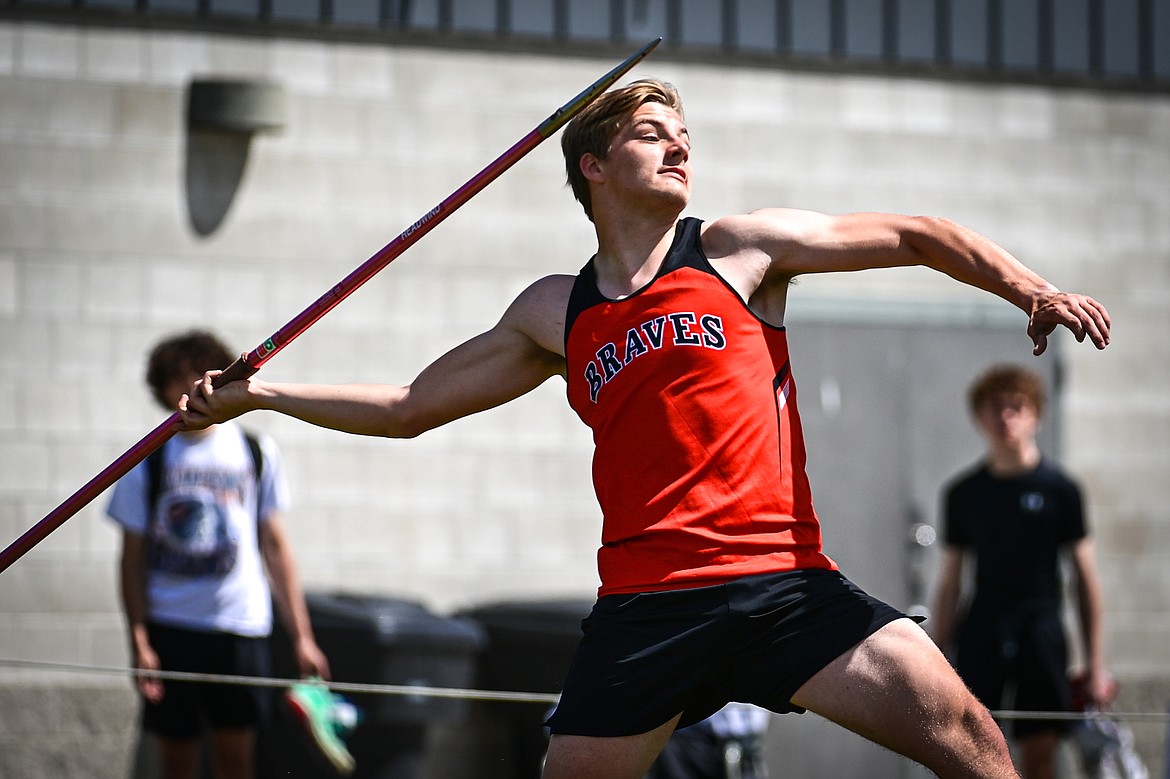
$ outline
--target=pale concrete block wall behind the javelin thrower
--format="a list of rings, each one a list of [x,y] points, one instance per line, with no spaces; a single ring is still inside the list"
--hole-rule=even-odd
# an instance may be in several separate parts
[[[207,325],[252,349],[610,67],[0,21],[0,543],[165,418],[142,382],[156,339]],[[666,58],[635,75],[683,91],[696,215],[945,215],[1109,305],[1108,351],[1064,350],[1065,460],[1090,499],[1114,668],[1164,683],[1170,99]],[[252,138],[225,218],[200,235],[191,198],[207,195],[195,182],[215,160],[184,117],[187,84],[206,76],[282,84],[289,118]],[[556,140],[544,144],[261,378],[408,381],[536,276],[576,271],[592,233],[562,171]],[[794,297],[842,317],[873,301],[1010,309],[921,270],[804,280]],[[589,595],[590,439],[563,392],[550,381],[408,442],[249,419],[285,454],[305,584],[439,611]],[[125,664],[104,502],[0,574],[0,659]]]

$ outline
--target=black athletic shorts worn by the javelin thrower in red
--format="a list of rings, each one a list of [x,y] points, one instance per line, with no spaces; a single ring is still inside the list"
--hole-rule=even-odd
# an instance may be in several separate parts
[[[731,701],[777,712],[817,671],[901,612],[837,571],[791,571],[691,590],[605,595],[581,622],[553,733],[680,728]]]

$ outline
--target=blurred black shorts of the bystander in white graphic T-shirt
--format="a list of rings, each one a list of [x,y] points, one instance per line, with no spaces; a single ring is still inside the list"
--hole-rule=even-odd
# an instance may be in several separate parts
[[[268,639],[204,633],[151,623],[150,642],[164,670],[271,676]],[[165,680],[163,699],[143,702],[143,730],[164,738],[195,738],[213,729],[255,728],[268,716],[267,688]]]

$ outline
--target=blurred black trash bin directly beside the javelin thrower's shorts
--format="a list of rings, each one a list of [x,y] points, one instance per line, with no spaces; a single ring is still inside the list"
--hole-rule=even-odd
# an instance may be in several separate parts
[[[581,620],[593,599],[501,601],[459,612],[488,637],[475,687],[514,692],[560,692]],[[448,738],[442,773],[450,779],[537,779],[548,746],[544,721],[550,703],[473,702],[466,725]]]

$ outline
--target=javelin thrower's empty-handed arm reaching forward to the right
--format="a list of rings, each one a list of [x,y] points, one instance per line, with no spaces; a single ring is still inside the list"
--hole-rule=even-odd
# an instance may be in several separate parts
[[[924,266],[1026,312],[1037,354],[1061,325],[1097,349],[1109,343],[1103,305],[1061,292],[987,237],[948,219],[766,208],[713,222],[703,246],[714,257],[736,257],[752,294],[786,287],[801,274]]]

